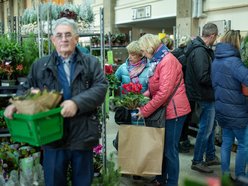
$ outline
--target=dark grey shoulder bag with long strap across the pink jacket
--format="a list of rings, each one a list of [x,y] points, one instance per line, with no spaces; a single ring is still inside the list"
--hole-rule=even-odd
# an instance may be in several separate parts
[[[145,118],[146,126],[163,127],[163,123],[164,123],[163,121],[165,120],[166,107],[169,104],[172,97],[174,96],[174,94],[176,93],[182,79],[183,79],[183,76],[181,76],[179,83],[174,88],[172,94],[169,96],[166,103],[160,106],[158,109],[156,109],[150,116]]]

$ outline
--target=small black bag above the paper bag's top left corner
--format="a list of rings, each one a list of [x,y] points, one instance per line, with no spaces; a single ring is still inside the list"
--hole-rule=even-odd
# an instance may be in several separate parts
[[[117,107],[114,118],[118,125],[131,124],[131,112],[125,107]]]

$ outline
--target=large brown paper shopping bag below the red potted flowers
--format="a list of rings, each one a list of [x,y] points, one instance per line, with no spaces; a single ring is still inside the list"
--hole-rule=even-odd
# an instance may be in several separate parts
[[[161,175],[164,128],[120,125],[118,165],[122,174]]]

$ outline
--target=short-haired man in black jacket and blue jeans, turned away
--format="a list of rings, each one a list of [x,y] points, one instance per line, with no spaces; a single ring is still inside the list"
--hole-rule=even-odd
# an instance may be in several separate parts
[[[214,92],[211,82],[211,63],[214,52],[211,46],[218,35],[218,28],[213,23],[203,26],[202,37],[196,37],[194,48],[187,58],[187,68],[185,74],[186,91],[189,101],[194,101],[201,108],[199,118],[199,129],[196,136],[194,157],[191,169],[212,173],[208,166],[219,165],[220,162],[215,156],[214,145]],[[204,162],[203,156],[206,156]]]

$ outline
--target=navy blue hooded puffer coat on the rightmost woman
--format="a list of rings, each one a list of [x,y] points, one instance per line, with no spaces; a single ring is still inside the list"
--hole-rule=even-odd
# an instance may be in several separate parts
[[[239,51],[228,43],[216,46],[212,64],[216,119],[224,128],[244,128],[248,125],[248,101],[241,84],[248,85],[248,68]]]

